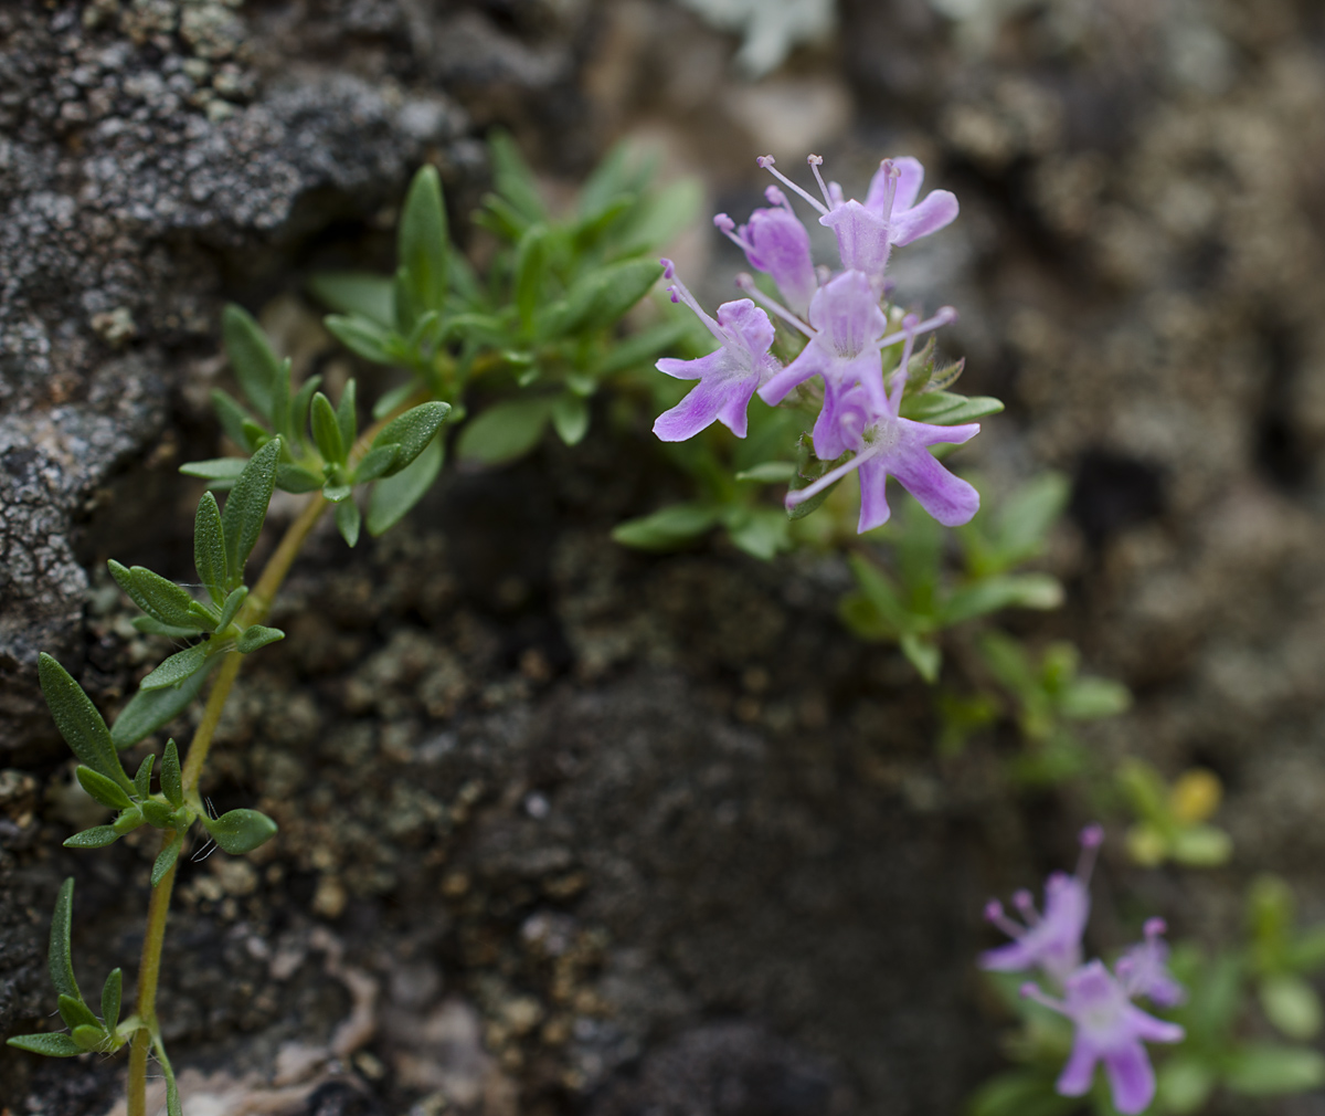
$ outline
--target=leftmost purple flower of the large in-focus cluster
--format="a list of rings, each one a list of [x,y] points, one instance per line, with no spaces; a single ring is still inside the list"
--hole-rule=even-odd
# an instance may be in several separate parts
[[[685,302],[700,321],[708,326],[722,347],[697,361],[664,358],[657,370],[682,380],[700,380],[698,386],[670,411],[664,411],[653,423],[653,433],[662,441],[685,441],[714,419],[737,437],[746,435],[746,408],[755,388],[778,371],[778,362],[770,355],[774,329],[768,315],[749,298],[723,302],[714,321],[676,278],[670,260],[662,260],[664,274],[672,280],[669,288],[673,302]]]

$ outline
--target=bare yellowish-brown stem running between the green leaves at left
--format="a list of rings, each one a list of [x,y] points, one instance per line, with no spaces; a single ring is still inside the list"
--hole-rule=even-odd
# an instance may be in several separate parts
[[[350,457],[351,464],[359,461],[367,453],[372,445],[372,440],[387,423],[419,403],[420,399],[421,394],[416,392],[382,419],[382,421],[374,423],[364,431],[363,436],[354,444]],[[276,599],[276,594],[285,582],[286,574],[290,573],[290,566],[294,565],[294,559],[307,541],[309,534],[329,506],[322,493],[315,493],[303,505],[303,510],[299,512],[294,522],[285,529],[281,542],[272,553],[266,566],[262,569],[262,575],[240,610],[241,627],[257,624],[266,619],[268,612],[272,611],[272,602]],[[188,746],[188,755],[184,759],[184,769],[182,771],[184,794],[188,797],[192,797],[193,791],[197,790],[197,785],[203,778],[207,753],[211,750],[212,738],[216,736],[216,728],[220,725],[221,713],[225,709],[225,700],[231,696],[231,689],[233,689],[235,680],[238,677],[242,661],[244,656],[237,651],[228,652],[221,663],[220,672],[216,675],[216,681],[212,683],[212,689],[207,696],[207,708],[203,710],[203,721],[193,733],[193,740]],[[174,838],[174,830],[163,831],[162,847],[164,848]],[[129,1048],[129,1116],[147,1116],[147,1058],[151,1054],[154,1043],[158,1046],[160,1043],[160,1027],[156,1022],[156,987],[160,981],[166,921],[170,916],[170,900],[171,892],[175,888],[175,868],[178,867],[179,860],[171,865],[162,881],[152,888],[151,903],[147,908],[143,953],[138,965],[138,1017],[142,1019],[142,1026],[134,1032],[132,1043]]]

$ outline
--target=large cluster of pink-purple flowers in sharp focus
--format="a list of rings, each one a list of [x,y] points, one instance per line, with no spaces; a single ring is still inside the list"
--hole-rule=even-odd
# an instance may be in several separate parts
[[[947,225],[957,216],[957,199],[935,190],[917,201],[925,171],[916,159],[884,159],[863,203],[844,199],[837,183],[823,180],[818,155],[808,162],[823,201],[778,171],[771,155],[759,159],[759,166],[820,213],[819,223],[837,237],[841,270],[816,270],[810,235],[775,186],[766,195],[770,208],[755,209],[746,224],[738,228],[726,213],[718,213],[714,224],[741,247],[753,268],[772,278],[786,305],[763,294],[750,276],[741,276],[737,282],[750,297],[722,304],[714,321],[676,277],[672,261],[664,260],[672,301],[684,301],[694,310],[721,347],[697,361],[657,362],[660,371],[698,380],[698,386],[659,416],[653,432],[664,441],[682,441],[717,420],[745,437],[746,411],[755,392],[765,403],[778,404],[818,378],[823,407],[814,427],[815,456],[822,461],[852,456],[812,484],[788,492],[788,509],[859,472],[860,531],[888,521],[890,476],[941,524],[965,524],[979,509],[979,493],[945,469],[929,448],[967,441],[979,424],[934,425],[900,414],[916,338],[955,321],[957,313],[943,307],[926,321],[909,314],[901,329],[888,333],[880,305],[893,245],[910,244]],[[770,353],[775,329],[766,310],[807,338],[784,367]],[[896,345],[902,346],[898,370],[885,386],[882,353]]]

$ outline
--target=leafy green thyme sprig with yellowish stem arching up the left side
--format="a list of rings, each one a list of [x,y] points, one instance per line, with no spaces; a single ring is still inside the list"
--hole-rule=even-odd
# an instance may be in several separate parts
[[[134,626],[187,645],[143,677],[110,725],[60,663],[40,657],[41,689],[78,761],[78,782],[117,811],[111,823],[74,834],[66,847],[102,848],[150,826],[160,831],[160,850],[151,871],[132,1013],[121,1011],[118,968],[106,978],[99,1003],[90,1006],[80,989],[69,879],[56,903],[48,954],[68,1030],[8,1043],[56,1058],[127,1046],[130,1116],[146,1116],[152,1059],[166,1079],[170,1115],[182,1113],[156,1005],[180,855],[199,827],[231,855],[253,851],[277,831],[256,810],[212,816],[199,786],[241,664],[284,638],[264,622],[314,526],[330,510],[354,546],[364,526],[376,535],[399,522],[440,473],[443,424],[469,415],[480,378],[482,391],[473,394],[496,394],[498,400],[468,419],[458,452],[490,463],[509,460],[533,448],[547,425],[564,441],[579,441],[588,425],[587,399],[599,384],[676,335],[674,326],[665,326],[624,342],[617,337],[621,317],[662,272],[648,256],[684,219],[692,186],[652,190],[648,168],[631,166],[617,151],[591,178],[576,212],[558,220],[507,138],[494,138],[492,159],[496,190],[478,219],[506,247],[486,276],[477,276],[450,244],[440,178],[424,167],[401,211],[395,276],[339,273],[314,281],[315,293],[339,311],[327,318],[333,334],[363,359],[408,374],[376,402],[367,429],[360,432],[354,380],[335,402],[319,391],[318,376],[294,383],[290,361],[277,357],[257,322],[238,306],[227,307],[223,334],[241,398],[217,390],[212,403],[237,452],[182,468],[209,485],[193,521],[193,561],[204,596],[143,566],[110,562],[113,578],[142,611]],[[276,489],[307,500],[250,587],[248,558]],[[201,721],[183,759],[171,740],[159,769],[148,754],[130,777],[121,753],[183,713],[208,680]]]

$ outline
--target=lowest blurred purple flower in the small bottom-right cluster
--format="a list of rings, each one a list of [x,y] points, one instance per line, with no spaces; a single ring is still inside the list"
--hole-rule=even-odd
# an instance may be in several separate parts
[[[1072,1054],[1056,1084],[1063,1096],[1084,1096],[1090,1089],[1097,1062],[1113,1093],[1113,1105],[1124,1116],[1142,1112],[1154,1100],[1155,1075],[1142,1042],[1182,1042],[1183,1030],[1147,1015],[1102,961],[1083,965],[1064,982],[1064,998],[1045,995],[1035,983],[1022,995],[1067,1015],[1076,1025]]]

